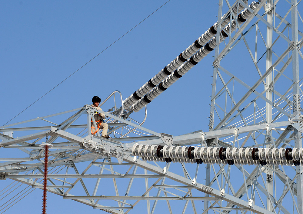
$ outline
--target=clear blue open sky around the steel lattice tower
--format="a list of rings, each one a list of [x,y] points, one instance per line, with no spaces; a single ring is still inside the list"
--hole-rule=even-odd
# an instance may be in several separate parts
[[[0,124],[11,120],[165,2],[0,1]],[[90,104],[94,95],[103,100],[114,90],[121,91],[125,99],[201,36],[217,21],[217,15],[217,1],[169,1],[10,123],[82,107]],[[247,51],[236,50],[241,54],[233,55],[238,58],[230,68],[249,82],[250,76],[243,71],[255,69],[253,63]],[[214,53],[148,105],[146,128],[172,135],[208,130],[212,56]],[[142,120],[142,112],[135,117]],[[48,195],[49,213],[58,209],[67,214],[99,212]],[[42,191],[35,190],[6,213],[20,211],[21,206],[39,212],[41,198]]]

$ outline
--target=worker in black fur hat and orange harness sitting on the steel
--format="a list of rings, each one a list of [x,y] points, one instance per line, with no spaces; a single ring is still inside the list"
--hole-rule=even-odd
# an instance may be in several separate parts
[[[99,104],[101,102],[101,98],[98,97],[98,96],[94,96],[92,98],[92,107],[95,108],[96,110],[100,110],[102,111],[102,109],[99,107]],[[97,130],[95,129],[95,126],[94,126],[94,123],[91,119],[91,128],[92,128],[92,134],[96,134],[97,131],[99,131],[99,128],[102,128],[102,135],[101,137],[103,138],[109,138],[109,136],[107,135],[107,130],[108,130],[108,124],[104,122],[104,118],[105,118],[105,114],[104,113],[99,113],[97,111],[95,111],[95,114],[94,114],[94,118],[95,118],[95,121],[96,121],[96,124],[97,124]]]

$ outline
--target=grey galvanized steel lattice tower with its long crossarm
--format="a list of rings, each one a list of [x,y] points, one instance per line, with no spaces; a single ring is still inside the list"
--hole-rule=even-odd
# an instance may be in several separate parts
[[[171,136],[144,128],[146,106],[145,117],[138,122],[130,117],[131,109],[124,109],[121,93],[115,91],[101,104],[114,99],[114,107],[104,112],[113,139],[101,138],[99,132],[90,134],[94,111],[90,105],[0,127],[2,153],[7,148],[18,151],[14,157],[0,158],[0,178],[41,189],[44,149],[39,144],[49,136],[53,148],[48,191],[94,209],[119,214],[142,207],[147,213],[203,214],[210,210],[290,214],[293,209],[302,214],[303,163],[193,165],[132,156],[134,144],[302,148],[300,4],[297,0],[261,0],[252,10],[241,0],[233,5],[219,0],[217,32],[227,17],[221,19],[222,11],[238,19],[241,11],[231,10],[238,5],[251,15],[241,26],[237,24],[235,32],[225,32],[224,43],[220,44],[220,33],[216,35],[209,131]],[[243,69],[249,76],[234,72],[239,51],[248,53],[254,65]],[[261,63],[266,67],[262,69]],[[51,125],[42,126],[43,122]],[[21,134],[13,138],[9,132]]]

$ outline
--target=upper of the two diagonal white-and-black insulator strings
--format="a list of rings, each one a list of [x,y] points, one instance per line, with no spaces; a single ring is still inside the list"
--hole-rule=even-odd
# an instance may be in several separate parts
[[[243,0],[247,4],[248,0]],[[239,4],[235,5],[231,12],[237,12],[243,10],[244,7]],[[224,14],[221,19],[226,14]],[[221,22],[221,29],[225,27],[225,25],[230,22],[231,15],[227,14],[225,19]],[[194,53],[196,53],[202,46],[204,46],[213,36],[217,34],[218,22],[208,28],[207,31],[204,32],[195,42],[193,42],[188,48],[186,48],[179,56],[177,56],[174,60],[172,60],[167,66],[165,66],[159,73],[157,73],[154,77],[152,77],[148,82],[146,82],[142,87],[136,90],[131,96],[126,98],[123,101],[123,105],[126,108],[135,104],[138,100],[140,100],[146,93],[156,87],[162,80],[164,80],[168,75],[173,73],[180,65],[182,65],[186,60],[188,60]],[[146,99],[146,98],[145,98]],[[147,99],[146,99],[147,100]]]

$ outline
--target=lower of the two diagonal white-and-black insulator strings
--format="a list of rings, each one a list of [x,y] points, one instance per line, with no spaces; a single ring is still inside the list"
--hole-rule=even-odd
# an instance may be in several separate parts
[[[258,4],[259,4],[259,2],[251,2],[251,4],[249,5],[249,8],[251,8],[252,10],[256,10]],[[233,19],[228,25],[225,26],[225,28],[223,30],[221,30],[220,36],[219,36],[220,37],[219,43],[223,42],[228,36],[230,36],[230,35],[228,35],[229,32],[231,33],[236,30],[237,23],[239,25],[243,24],[250,15],[251,15],[251,11],[249,11],[247,8],[245,8],[245,10],[243,10],[241,13],[239,13],[236,20]],[[205,44],[204,46],[202,46],[202,45],[200,45],[199,47],[193,46],[193,47],[195,47],[195,50],[193,50],[194,51],[193,53],[195,53],[195,54],[191,57],[188,55],[190,58],[188,57],[189,59],[188,58],[185,59],[183,61],[185,63],[183,63],[182,65],[180,64],[181,66],[179,66],[178,69],[176,69],[175,71],[174,70],[170,71],[168,73],[168,76],[165,79],[163,78],[164,80],[162,82],[160,82],[158,85],[154,84],[153,88],[151,88],[152,89],[151,91],[149,91],[150,89],[146,91],[146,93],[149,91],[147,94],[144,93],[145,94],[144,95],[142,93],[142,96],[144,95],[144,97],[137,96],[138,91],[135,92],[133,95],[136,97],[136,99],[138,101],[134,99],[134,101],[136,101],[136,102],[132,105],[132,110],[135,112],[138,112],[139,110],[141,110],[143,107],[145,107],[147,104],[149,104],[152,100],[154,100],[156,97],[158,97],[163,91],[168,89],[168,87],[170,87],[178,79],[180,79],[191,68],[193,68],[196,64],[198,64],[198,62],[200,62],[201,59],[203,59],[211,51],[213,51],[216,47],[216,36],[215,36],[216,33],[217,33],[217,31],[215,31],[215,33],[212,34],[212,36],[214,36],[214,37],[212,37],[212,39],[211,39],[211,37],[207,37],[207,40],[209,40],[209,39],[211,39],[211,40],[209,42],[207,42],[206,44],[203,43],[203,45]],[[203,35],[202,35],[202,37],[203,37]],[[200,40],[198,39],[197,41],[200,41]]]

